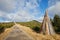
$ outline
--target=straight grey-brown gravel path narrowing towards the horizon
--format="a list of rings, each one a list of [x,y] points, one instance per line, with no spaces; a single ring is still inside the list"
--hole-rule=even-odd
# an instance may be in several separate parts
[[[25,31],[19,28],[17,25],[12,27],[12,31],[5,37],[4,40],[34,40]]]

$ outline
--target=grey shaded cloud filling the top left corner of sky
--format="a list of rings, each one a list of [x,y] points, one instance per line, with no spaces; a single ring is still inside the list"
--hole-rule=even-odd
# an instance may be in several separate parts
[[[11,12],[16,9],[16,4],[15,0],[0,0],[0,10]]]

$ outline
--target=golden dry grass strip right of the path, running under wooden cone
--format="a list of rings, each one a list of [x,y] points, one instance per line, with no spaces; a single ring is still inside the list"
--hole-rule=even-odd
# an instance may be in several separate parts
[[[35,40],[60,40],[60,35],[43,35],[40,33],[34,32],[32,29],[26,26],[18,25],[21,27],[26,33],[32,36]]]

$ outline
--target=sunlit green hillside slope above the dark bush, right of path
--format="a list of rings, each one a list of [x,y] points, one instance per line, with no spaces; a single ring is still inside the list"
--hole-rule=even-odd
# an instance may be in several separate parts
[[[36,21],[36,20],[33,20],[33,21],[29,21],[29,22],[17,22],[23,26],[27,26],[27,27],[40,27],[41,26],[41,23]]]

